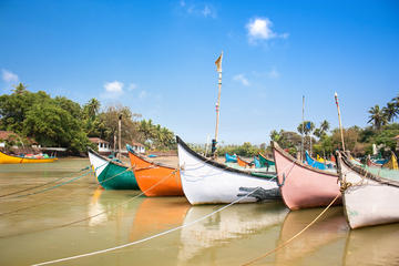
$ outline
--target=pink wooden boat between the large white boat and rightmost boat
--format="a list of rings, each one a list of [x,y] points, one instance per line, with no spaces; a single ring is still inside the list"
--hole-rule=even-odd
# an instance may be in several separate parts
[[[338,175],[314,168],[294,158],[272,142],[278,185],[289,209],[327,206],[340,194]],[[341,204],[339,197],[335,204]]]

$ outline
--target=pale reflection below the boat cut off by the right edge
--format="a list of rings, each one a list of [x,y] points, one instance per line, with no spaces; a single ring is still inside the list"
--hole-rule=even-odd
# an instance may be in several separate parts
[[[399,265],[399,224],[351,231],[345,248],[345,266]]]

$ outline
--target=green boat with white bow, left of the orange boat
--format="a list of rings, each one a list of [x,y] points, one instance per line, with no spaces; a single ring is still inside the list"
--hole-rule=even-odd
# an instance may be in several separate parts
[[[139,190],[132,170],[116,160],[101,156],[89,149],[89,160],[100,185],[105,190]]]

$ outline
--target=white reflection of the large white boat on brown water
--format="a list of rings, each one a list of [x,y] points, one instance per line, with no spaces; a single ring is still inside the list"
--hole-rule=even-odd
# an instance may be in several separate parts
[[[192,206],[184,219],[184,225],[190,225],[219,207]],[[181,264],[190,264],[195,257],[206,257],[205,252],[214,253],[215,249],[233,239],[245,238],[266,227],[280,224],[287,213],[288,209],[282,203],[233,205],[182,229],[178,260]],[[214,262],[211,260],[211,263]]]

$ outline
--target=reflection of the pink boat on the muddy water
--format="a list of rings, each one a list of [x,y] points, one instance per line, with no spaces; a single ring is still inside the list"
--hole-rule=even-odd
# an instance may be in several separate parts
[[[278,245],[307,226],[323,208],[290,212],[283,224]],[[300,236],[276,253],[275,265],[340,265],[349,227],[342,207],[327,211]]]

